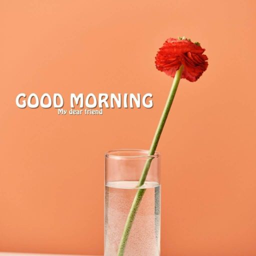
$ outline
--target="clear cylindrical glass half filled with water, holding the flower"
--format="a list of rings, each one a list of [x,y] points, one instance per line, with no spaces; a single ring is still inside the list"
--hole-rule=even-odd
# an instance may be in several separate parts
[[[150,159],[146,180],[138,180]],[[105,154],[104,256],[116,256],[138,189],[145,189],[124,248],[124,256],[160,255],[160,157],[147,150],[120,149]]]

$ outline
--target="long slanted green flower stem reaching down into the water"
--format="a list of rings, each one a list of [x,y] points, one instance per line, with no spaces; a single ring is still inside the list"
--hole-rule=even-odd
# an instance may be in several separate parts
[[[170,111],[170,107],[171,107],[172,101],[174,99],[174,96],[175,96],[175,93],[176,93],[176,90],[177,90],[177,87],[178,87],[178,83],[179,83],[182,71],[183,71],[183,65],[181,65],[179,67],[179,69],[176,71],[175,76],[173,78],[171,89],[170,89],[167,101],[165,103],[161,118],[159,120],[158,126],[156,128],[156,131],[155,131],[155,134],[154,134],[154,137],[153,137],[153,140],[152,140],[149,152],[148,152],[149,156],[153,155],[155,153],[155,149],[156,149],[157,144],[159,142],[160,135],[162,133],[165,121],[166,121],[168,113]],[[139,182],[138,182],[138,187],[140,187],[144,184],[145,179],[146,179],[146,175],[148,173],[148,170],[149,170],[152,159],[153,159],[153,157],[149,157],[146,160],[146,163],[144,165],[144,168],[142,170],[142,173],[141,173],[141,176],[140,176],[140,179],[139,179]],[[130,211],[128,213],[128,216],[127,216],[127,219],[126,219],[126,222],[125,222],[122,237],[121,237],[121,240],[120,240],[120,243],[119,243],[117,256],[123,256],[123,254],[124,254],[124,249],[125,249],[125,245],[126,245],[127,240],[128,240],[130,229],[131,229],[134,217],[136,215],[138,206],[140,204],[140,201],[143,197],[143,194],[145,193],[145,190],[146,190],[145,188],[139,188],[136,192],[136,195],[135,195],[134,199],[133,199],[132,205],[130,207]]]

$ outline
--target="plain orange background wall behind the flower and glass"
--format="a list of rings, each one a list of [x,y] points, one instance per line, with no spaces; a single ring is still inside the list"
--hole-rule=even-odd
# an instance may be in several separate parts
[[[255,3],[1,0],[0,251],[103,253],[104,152],[148,148],[171,78],[170,36],[206,48],[160,139],[161,255],[255,256]],[[153,94],[151,109],[59,116],[19,92]],[[68,104],[67,104],[68,105]]]

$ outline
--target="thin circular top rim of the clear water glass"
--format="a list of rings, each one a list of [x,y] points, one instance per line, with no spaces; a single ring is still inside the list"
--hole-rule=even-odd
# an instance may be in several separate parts
[[[120,155],[120,154],[115,154],[117,152],[125,152],[125,151],[134,151],[134,152],[144,152],[148,153],[149,150],[147,149],[136,149],[136,148],[120,148],[120,149],[113,149],[109,150],[105,153],[105,157],[107,158],[115,158],[115,159],[123,159],[123,158],[158,158],[160,156],[160,153],[158,151],[155,151],[154,154],[141,154],[141,155]]]

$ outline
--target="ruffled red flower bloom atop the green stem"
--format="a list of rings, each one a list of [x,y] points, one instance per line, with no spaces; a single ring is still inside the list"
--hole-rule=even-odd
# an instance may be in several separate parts
[[[206,70],[208,58],[202,54],[203,49],[199,43],[193,43],[186,38],[169,38],[156,54],[155,66],[158,70],[174,77],[176,70],[184,66],[181,78],[193,82]]]

